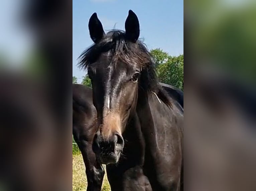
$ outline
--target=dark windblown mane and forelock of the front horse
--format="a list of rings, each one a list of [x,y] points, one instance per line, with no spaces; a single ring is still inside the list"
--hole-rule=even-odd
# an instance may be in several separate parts
[[[155,63],[146,46],[140,40],[136,43],[126,41],[124,31],[111,30],[101,41],[86,49],[78,58],[79,68],[86,70],[101,54],[108,51],[112,52],[112,63],[121,61],[126,64],[138,64],[142,68],[139,88],[148,93],[156,93],[167,106],[172,107],[168,94],[158,84]]]

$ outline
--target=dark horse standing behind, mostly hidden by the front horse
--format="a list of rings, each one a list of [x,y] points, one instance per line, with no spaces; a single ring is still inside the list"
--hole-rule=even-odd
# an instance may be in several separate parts
[[[159,84],[183,112],[181,107],[183,99],[178,99],[183,98],[183,92],[171,85]],[[92,141],[97,130],[96,117],[97,111],[93,105],[92,89],[80,84],[73,84],[73,137],[83,155],[86,166],[87,191],[100,191],[105,174],[102,164],[96,159],[92,150]]]

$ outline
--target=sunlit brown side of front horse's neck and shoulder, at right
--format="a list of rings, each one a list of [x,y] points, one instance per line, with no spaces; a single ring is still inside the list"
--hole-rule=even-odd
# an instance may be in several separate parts
[[[149,95],[148,99],[147,111],[137,111],[147,145],[145,173],[153,190],[179,190],[183,114],[175,105],[169,109],[160,103],[155,95]],[[149,119],[143,117],[145,112]]]

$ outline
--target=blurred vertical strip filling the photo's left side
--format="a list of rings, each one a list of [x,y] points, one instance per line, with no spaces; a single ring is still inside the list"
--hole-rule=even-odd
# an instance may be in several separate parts
[[[8,45],[0,43],[0,190],[70,191],[72,1],[2,1],[1,7],[12,12],[0,20]],[[9,24],[17,27],[9,32]],[[30,44],[26,53],[27,42],[14,41],[21,31]]]

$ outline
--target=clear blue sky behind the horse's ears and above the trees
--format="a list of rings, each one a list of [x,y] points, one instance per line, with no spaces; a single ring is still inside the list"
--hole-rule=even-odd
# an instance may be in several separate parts
[[[128,10],[138,16],[140,38],[148,49],[161,48],[172,56],[183,54],[183,0],[73,0],[73,76],[81,82],[86,72],[77,58],[93,41],[88,21],[96,12],[104,30],[124,30]]]

